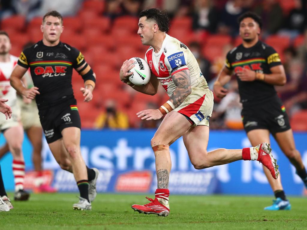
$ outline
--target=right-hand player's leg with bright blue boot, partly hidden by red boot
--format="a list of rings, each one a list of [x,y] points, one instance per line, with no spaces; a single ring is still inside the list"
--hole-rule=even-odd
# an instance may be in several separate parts
[[[270,132],[267,129],[254,129],[247,133],[247,137],[252,145],[257,145],[262,142],[270,143]],[[276,200],[274,200],[273,205],[265,207],[267,210],[282,210],[291,209],[290,202],[286,198],[286,194],[282,187],[281,177],[275,180],[271,177],[270,171],[263,166],[263,171],[268,179],[270,186],[274,192]],[[279,198],[278,198],[279,197]],[[275,204],[276,203],[276,204]],[[279,205],[279,206],[278,206]]]

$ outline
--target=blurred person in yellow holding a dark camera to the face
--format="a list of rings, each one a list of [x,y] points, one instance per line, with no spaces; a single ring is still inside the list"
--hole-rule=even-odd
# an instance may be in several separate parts
[[[127,129],[129,128],[129,118],[126,113],[117,109],[114,100],[109,99],[105,103],[105,111],[96,118],[94,128]]]

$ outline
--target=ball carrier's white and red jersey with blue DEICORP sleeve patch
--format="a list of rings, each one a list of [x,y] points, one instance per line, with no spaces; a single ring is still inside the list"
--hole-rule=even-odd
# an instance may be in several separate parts
[[[160,51],[155,53],[150,47],[145,54],[145,60],[169,96],[177,87],[172,75],[186,69],[190,72],[192,87],[208,88],[206,79],[192,52],[185,44],[168,34],[165,36]]]

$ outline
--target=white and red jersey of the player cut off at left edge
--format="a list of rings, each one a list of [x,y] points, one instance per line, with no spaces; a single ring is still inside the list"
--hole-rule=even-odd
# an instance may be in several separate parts
[[[0,97],[8,99],[7,105],[13,106],[16,103],[16,90],[10,85],[10,76],[13,72],[18,58],[10,55],[10,61],[0,62]]]

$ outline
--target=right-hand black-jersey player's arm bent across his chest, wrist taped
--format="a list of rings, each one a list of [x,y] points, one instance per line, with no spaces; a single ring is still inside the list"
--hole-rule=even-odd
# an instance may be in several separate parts
[[[282,65],[270,68],[271,74],[257,73],[243,68],[243,71],[237,72],[241,81],[264,81],[271,85],[283,86],[286,84],[286,73]]]

